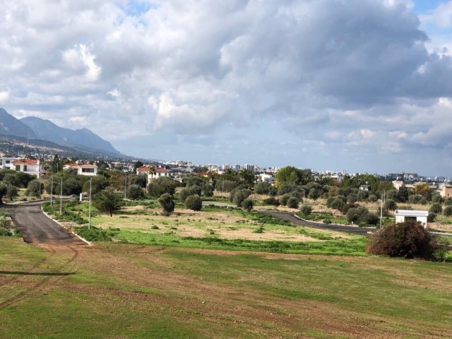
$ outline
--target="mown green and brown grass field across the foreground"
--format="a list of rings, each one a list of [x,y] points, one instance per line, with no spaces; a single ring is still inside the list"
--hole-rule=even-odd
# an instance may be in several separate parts
[[[450,263],[114,243],[75,251],[0,238],[0,338],[452,336]]]

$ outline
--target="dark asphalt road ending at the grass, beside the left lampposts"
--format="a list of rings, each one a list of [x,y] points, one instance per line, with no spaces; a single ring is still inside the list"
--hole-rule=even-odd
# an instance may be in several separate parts
[[[11,219],[29,244],[86,245],[81,239],[61,227],[41,211],[40,203],[4,205],[1,210],[11,214]]]

